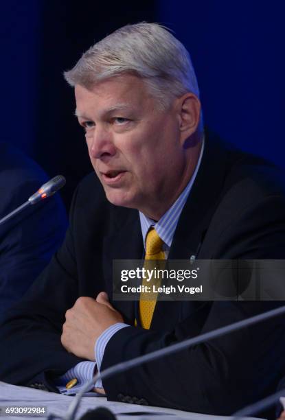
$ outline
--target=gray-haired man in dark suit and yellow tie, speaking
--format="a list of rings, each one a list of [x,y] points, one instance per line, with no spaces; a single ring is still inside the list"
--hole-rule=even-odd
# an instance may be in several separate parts
[[[168,259],[284,258],[285,199],[273,165],[204,134],[189,54],[163,27],[122,27],[65,77],[75,86],[97,176],[79,185],[65,243],[3,322],[0,378],[76,393],[96,366],[278,304],[112,302],[113,259],[153,255],[150,242]],[[110,377],[95,390],[117,401],[229,415],[275,389],[285,368],[284,329],[276,318]],[[72,377],[78,385],[67,390]]]

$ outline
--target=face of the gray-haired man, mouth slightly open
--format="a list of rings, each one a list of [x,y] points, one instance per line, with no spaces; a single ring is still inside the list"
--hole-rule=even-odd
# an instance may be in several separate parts
[[[185,171],[175,105],[159,110],[134,75],[104,80],[91,90],[76,85],[75,91],[76,114],[108,200],[152,218],[158,209],[166,211]]]

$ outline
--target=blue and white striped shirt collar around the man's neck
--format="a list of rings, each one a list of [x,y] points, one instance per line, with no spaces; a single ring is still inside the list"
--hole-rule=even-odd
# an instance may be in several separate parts
[[[146,234],[148,233],[148,229],[150,229],[151,226],[155,228],[155,230],[157,231],[157,234],[159,235],[159,237],[161,237],[161,240],[163,240],[163,242],[170,248],[172,244],[172,239],[174,236],[174,231],[176,229],[179,217],[181,215],[181,211],[190,194],[196,175],[198,173],[198,169],[201,164],[201,160],[202,160],[202,156],[204,152],[204,145],[205,145],[205,141],[203,138],[199,159],[198,159],[196,168],[194,170],[194,173],[192,177],[190,178],[189,183],[187,183],[185,189],[183,189],[179,198],[177,198],[177,200],[173,203],[170,209],[168,209],[168,211],[166,211],[166,213],[163,214],[163,216],[159,219],[159,221],[155,222],[155,220],[148,218],[146,215],[144,215],[144,213],[141,213],[141,211],[139,211],[139,220],[141,222],[141,233],[143,235],[145,248],[146,248]]]

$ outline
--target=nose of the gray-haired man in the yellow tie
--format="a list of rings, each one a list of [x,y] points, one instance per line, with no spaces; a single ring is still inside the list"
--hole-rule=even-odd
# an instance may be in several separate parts
[[[91,138],[89,154],[94,159],[104,159],[105,156],[108,157],[115,154],[113,135],[109,130],[96,126]]]

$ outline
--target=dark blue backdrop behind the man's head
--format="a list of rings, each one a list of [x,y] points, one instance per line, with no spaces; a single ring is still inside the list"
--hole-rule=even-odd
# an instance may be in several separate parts
[[[62,72],[126,23],[157,21],[190,51],[205,123],[244,150],[284,163],[284,12],[273,1],[1,2],[1,141],[50,176],[62,173],[67,207],[91,165]],[[215,163],[213,162],[213,165]]]

